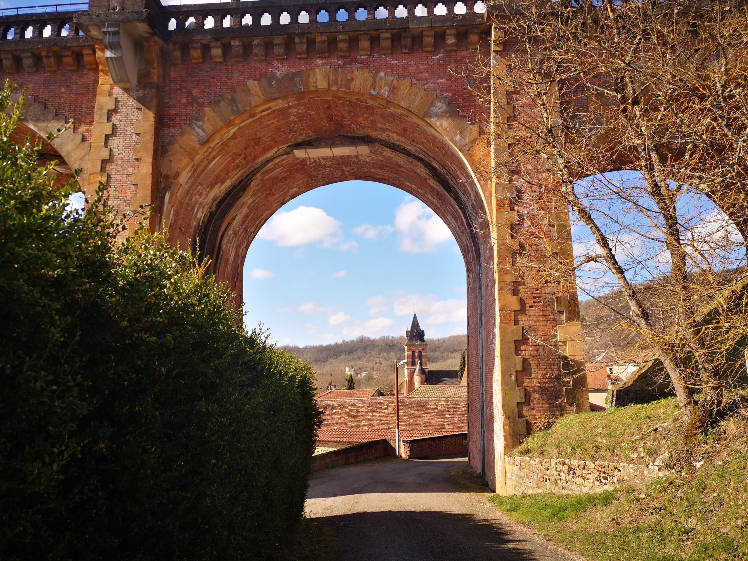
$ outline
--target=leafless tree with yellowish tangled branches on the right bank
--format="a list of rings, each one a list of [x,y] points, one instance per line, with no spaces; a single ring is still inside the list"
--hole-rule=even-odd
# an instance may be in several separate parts
[[[568,230],[545,230],[559,218],[529,220],[516,266],[560,286],[580,276],[592,297],[619,289],[625,309],[601,303],[662,362],[695,434],[742,375],[748,334],[745,5],[516,0],[489,12],[505,48],[476,70],[494,100],[493,171],[542,188],[554,214],[571,209],[579,239],[572,252]]]

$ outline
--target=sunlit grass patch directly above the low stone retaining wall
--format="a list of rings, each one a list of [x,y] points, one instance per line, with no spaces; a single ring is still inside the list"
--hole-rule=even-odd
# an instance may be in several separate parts
[[[566,415],[525,438],[512,456],[648,464],[678,446],[683,425],[675,398]]]

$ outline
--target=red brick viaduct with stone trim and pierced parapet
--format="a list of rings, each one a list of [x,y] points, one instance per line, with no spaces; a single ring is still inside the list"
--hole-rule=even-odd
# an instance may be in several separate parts
[[[538,218],[490,173],[503,147],[480,124],[512,105],[462,77],[501,56],[500,28],[475,0],[404,1],[91,0],[1,17],[0,58],[28,88],[23,126],[74,121],[50,148],[61,173],[82,169],[89,194],[104,183],[120,212],[155,205],[153,227],[239,294],[253,237],[305,191],[373,180],[437,212],[467,269],[470,463],[501,491],[539,417],[589,411],[585,375],[563,366],[582,359],[577,292],[512,268],[516,230]],[[298,157],[313,147],[354,155]],[[568,212],[545,210],[569,251]]]

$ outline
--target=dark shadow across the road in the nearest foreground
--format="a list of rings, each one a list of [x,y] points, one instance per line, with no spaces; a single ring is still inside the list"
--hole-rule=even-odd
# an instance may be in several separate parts
[[[335,536],[336,561],[557,561],[566,557],[524,533],[472,515],[384,511],[316,518]]]

